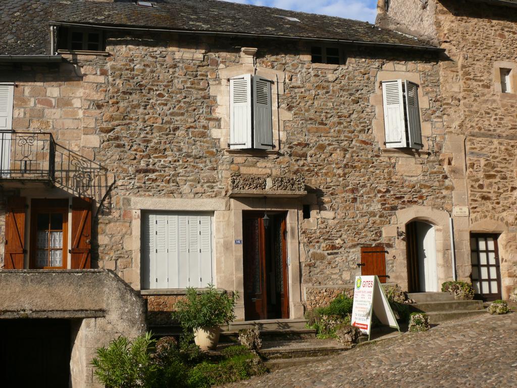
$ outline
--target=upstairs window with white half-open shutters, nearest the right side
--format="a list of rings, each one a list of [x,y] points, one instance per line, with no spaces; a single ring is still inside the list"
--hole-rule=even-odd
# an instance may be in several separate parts
[[[421,150],[418,85],[402,80],[383,81],[382,89],[386,147]]]

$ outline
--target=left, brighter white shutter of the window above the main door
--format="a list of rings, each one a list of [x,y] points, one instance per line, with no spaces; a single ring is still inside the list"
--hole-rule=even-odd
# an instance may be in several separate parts
[[[230,149],[251,148],[251,74],[230,79]]]

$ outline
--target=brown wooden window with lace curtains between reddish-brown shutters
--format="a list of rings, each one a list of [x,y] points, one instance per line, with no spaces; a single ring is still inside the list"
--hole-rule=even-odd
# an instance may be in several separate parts
[[[32,268],[67,268],[68,200],[33,200]]]

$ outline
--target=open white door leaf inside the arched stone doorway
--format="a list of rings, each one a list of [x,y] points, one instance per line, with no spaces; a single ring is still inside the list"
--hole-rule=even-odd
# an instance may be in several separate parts
[[[417,222],[418,273],[421,292],[438,291],[436,237],[432,225]]]

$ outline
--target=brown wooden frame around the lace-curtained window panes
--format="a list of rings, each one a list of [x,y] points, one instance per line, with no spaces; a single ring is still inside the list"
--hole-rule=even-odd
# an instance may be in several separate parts
[[[35,270],[66,270],[68,268],[68,199],[33,199],[31,201],[31,245],[29,248],[29,268]],[[63,213],[63,263],[62,266],[36,266],[37,216],[40,213]]]

